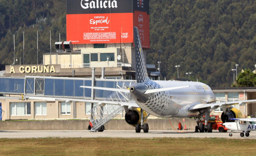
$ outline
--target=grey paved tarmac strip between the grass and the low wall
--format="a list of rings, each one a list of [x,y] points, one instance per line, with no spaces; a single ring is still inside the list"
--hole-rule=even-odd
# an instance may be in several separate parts
[[[136,133],[135,130],[104,130],[103,132],[89,132],[88,130],[19,130],[19,131],[0,131],[0,138],[45,138],[45,137],[125,137],[125,138],[156,138],[156,137],[197,137],[197,138],[239,138],[256,139],[256,131],[250,132],[249,137],[240,137],[240,132],[230,131],[220,133],[213,130],[212,133],[199,133],[192,130],[149,130],[148,133]]]

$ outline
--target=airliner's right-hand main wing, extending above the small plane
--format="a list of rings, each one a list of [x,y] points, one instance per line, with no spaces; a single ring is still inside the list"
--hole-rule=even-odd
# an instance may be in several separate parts
[[[246,103],[253,103],[256,102],[256,99],[253,100],[242,100],[242,101],[229,101],[229,102],[220,102],[220,103],[201,103],[201,104],[195,104],[191,106],[188,110],[189,111],[196,111],[196,110],[202,110],[203,108],[211,108],[216,109],[218,107],[227,107],[229,105],[239,104],[239,105],[245,105]]]

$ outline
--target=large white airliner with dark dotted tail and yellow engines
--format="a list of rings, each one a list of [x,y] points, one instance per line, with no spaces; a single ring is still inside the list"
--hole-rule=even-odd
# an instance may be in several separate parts
[[[217,107],[223,108],[221,116],[222,121],[230,122],[230,118],[242,118],[241,112],[231,105],[256,102],[256,100],[216,102],[216,98],[211,88],[201,82],[192,81],[158,81],[150,80],[147,74],[146,63],[144,61],[142,46],[138,28],[134,27],[134,48],[136,59],[136,83],[129,89],[114,89],[103,87],[80,86],[83,88],[94,88],[102,90],[111,90],[117,92],[130,93],[136,104],[141,108],[140,112],[136,109],[129,109],[129,104],[125,106],[125,121],[128,124],[135,125],[135,131],[139,133],[141,129],[148,132],[149,126],[146,123],[148,115],[145,112],[156,117],[171,118],[191,118],[197,120],[195,127],[200,132],[212,132],[210,112]],[[204,118],[205,124],[200,123],[199,119]]]

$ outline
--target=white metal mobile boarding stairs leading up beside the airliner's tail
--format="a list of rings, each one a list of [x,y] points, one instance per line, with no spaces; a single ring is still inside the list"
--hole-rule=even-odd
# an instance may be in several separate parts
[[[127,85],[127,84],[126,84]],[[117,88],[127,89],[125,84],[120,84],[117,82]],[[129,86],[128,86],[129,87]],[[119,101],[119,102],[129,102],[131,100],[130,93],[124,92],[113,92],[108,98],[105,100],[108,101]],[[102,101],[103,103],[103,101]],[[87,114],[90,119],[91,129],[89,131],[103,131],[104,124],[109,122],[109,120],[113,119],[117,115],[121,114],[124,110],[124,107],[116,104],[97,104],[95,105]]]

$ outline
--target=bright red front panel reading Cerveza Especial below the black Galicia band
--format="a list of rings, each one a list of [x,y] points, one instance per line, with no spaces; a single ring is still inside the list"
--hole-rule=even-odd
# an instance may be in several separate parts
[[[67,40],[73,44],[133,42],[132,13],[67,14],[67,21]]]

